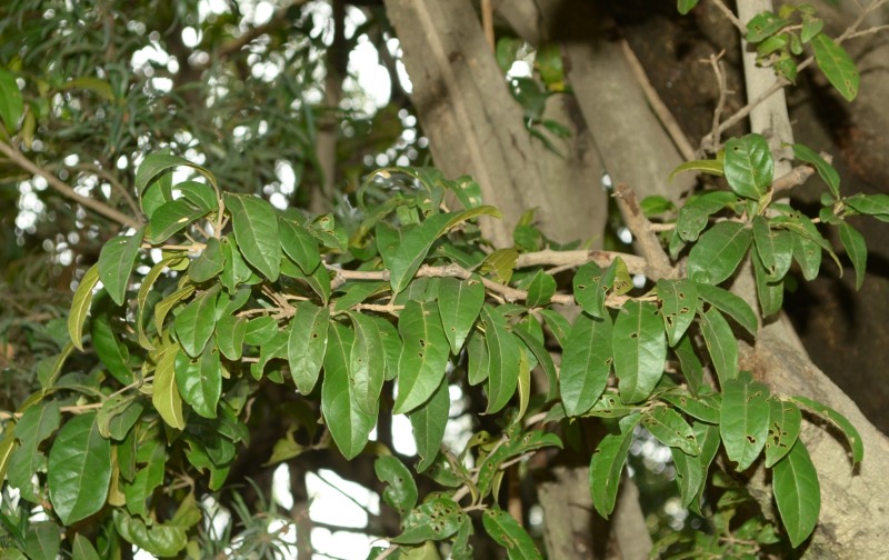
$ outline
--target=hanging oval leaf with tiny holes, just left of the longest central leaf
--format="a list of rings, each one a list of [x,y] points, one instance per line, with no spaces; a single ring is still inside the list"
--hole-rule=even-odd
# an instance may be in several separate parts
[[[297,389],[309,394],[318,382],[327,352],[330,310],[309,301],[299,301],[296,308],[297,313],[290,321],[287,357]]]

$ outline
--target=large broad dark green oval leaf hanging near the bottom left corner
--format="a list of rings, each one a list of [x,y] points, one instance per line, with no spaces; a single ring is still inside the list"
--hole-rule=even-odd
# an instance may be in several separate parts
[[[66,526],[104,506],[111,483],[111,442],[99,434],[96,413],[68,420],[49,451],[47,486],[53,512]]]

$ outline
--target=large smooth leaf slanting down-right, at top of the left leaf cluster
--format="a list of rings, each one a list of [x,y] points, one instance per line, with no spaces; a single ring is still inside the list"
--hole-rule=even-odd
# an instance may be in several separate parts
[[[281,241],[278,239],[278,216],[271,204],[247,194],[224,194],[226,208],[238,248],[262,276],[272,282],[281,271]]]

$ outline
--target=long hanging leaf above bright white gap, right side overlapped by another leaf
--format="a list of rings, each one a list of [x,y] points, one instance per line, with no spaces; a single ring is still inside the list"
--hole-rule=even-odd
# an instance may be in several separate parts
[[[328,339],[324,379],[321,383],[321,410],[333,442],[346,459],[353,459],[367,446],[377,417],[361,410],[349,381],[349,354],[354,342],[353,332],[338,322],[331,322]]]

